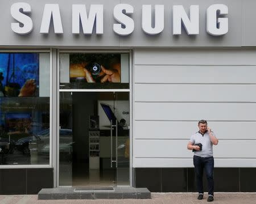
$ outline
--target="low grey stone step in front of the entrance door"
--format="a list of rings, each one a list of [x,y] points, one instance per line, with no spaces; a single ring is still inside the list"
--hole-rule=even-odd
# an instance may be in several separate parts
[[[42,189],[38,193],[39,200],[52,199],[150,199],[147,188],[117,186],[111,188],[60,187]]]

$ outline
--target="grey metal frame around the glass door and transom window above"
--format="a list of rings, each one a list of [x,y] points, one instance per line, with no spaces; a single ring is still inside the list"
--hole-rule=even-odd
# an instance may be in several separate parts
[[[94,90],[88,90],[88,89],[59,89],[60,85],[60,53],[128,53],[129,54],[129,89],[94,89]],[[130,112],[130,131],[129,131],[129,138],[130,138],[130,185],[132,186],[133,183],[133,177],[132,177],[132,158],[133,158],[133,93],[132,93],[132,88],[133,88],[133,78],[132,78],[132,52],[131,50],[57,50],[57,49],[52,49],[52,67],[53,67],[53,72],[52,72],[52,78],[53,78],[53,87],[54,85],[56,86],[56,89],[53,88],[53,96],[55,99],[53,99],[53,104],[52,107],[56,107],[56,111],[52,112],[52,123],[56,124],[52,125],[52,134],[56,135],[56,137],[53,137],[52,139],[52,167],[53,167],[53,187],[59,187],[59,126],[60,126],[60,121],[59,121],[59,108],[60,108],[60,103],[59,103],[59,97],[60,97],[60,92],[129,92],[129,112]],[[54,71],[56,70],[56,71]]]

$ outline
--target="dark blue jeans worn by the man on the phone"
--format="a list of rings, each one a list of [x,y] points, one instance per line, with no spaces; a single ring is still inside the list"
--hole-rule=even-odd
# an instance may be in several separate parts
[[[213,156],[210,156],[208,158],[201,158],[200,156],[194,155],[193,163],[195,166],[198,192],[204,193],[203,171],[205,169],[205,173],[206,173],[207,180],[208,180],[208,194],[213,196],[213,192],[214,192],[214,182],[213,182],[214,159],[213,159]]]

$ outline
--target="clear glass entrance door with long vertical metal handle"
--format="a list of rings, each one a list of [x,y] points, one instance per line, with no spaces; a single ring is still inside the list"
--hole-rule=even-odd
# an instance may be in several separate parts
[[[129,92],[60,92],[59,185],[129,185]]]

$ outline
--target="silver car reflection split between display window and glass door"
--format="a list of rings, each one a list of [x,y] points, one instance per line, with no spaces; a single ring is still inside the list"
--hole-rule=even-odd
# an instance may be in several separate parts
[[[72,152],[72,130],[60,129],[59,149],[61,152]],[[49,154],[49,129],[40,131],[38,134],[32,136],[29,144],[30,151],[37,151],[38,153]]]

